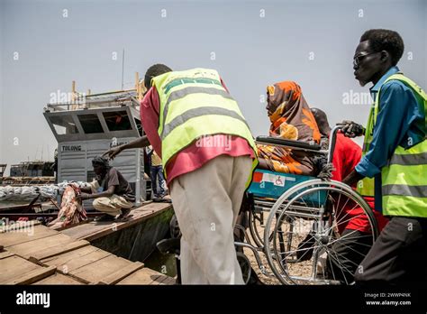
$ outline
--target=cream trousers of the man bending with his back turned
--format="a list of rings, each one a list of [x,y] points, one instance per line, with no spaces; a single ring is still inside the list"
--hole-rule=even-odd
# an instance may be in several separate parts
[[[244,283],[233,228],[251,164],[250,156],[220,155],[172,180],[170,196],[182,233],[182,283]]]

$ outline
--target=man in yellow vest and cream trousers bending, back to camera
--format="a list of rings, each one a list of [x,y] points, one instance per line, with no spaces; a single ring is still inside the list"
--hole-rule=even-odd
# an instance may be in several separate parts
[[[182,233],[182,283],[243,284],[233,226],[258,163],[250,128],[214,69],[156,64],[144,83],[147,135],[107,153],[150,142],[161,157]]]

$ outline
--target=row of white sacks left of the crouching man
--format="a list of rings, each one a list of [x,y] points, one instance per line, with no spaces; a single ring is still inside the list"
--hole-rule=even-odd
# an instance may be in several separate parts
[[[41,186],[23,186],[14,187],[6,185],[0,187],[0,202],[1,201],[32,201],[40,194],[41,201],[48,199],[57,199],[64,193],[69,183],[77,185],[79,188],[86,187],[88,184],[82,181],[63,181],[59,184],[41,185]]]

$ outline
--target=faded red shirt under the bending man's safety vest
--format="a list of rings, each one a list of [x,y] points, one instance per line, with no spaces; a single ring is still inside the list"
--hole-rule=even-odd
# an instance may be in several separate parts
[[[145,134],[147,134],[154,151],[161,157],[161,141],[158,134],[159,108],[159,94],[156,88],[152,87],[141,101],[141,124],[143,125]],[[200,145],[202,142],[203,144]],[[202,167],[204,163],[222,154],[227,154],[232,157],[250,155],[251,158],[255,158],[250,144],[239,136],[227,134],[205,136],[203,141],[200,140],[191,143],[184,150],[177,152],[177,154],[164,165],[166,166],[167,173],[166,182],[169,184],[174,178],[177,178],[177,176],[195,171]]]

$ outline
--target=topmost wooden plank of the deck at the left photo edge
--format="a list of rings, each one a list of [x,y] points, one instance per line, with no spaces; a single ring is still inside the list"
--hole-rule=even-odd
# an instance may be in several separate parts
[[[34,226],[30,229],[20,229],[16,231],[6,232],[1,234],[0,242],[6,248],[12,245],[20,245],[25,242],[31,242],[50,235],[58,235],[55,230],[51,230],[46,226]]]

